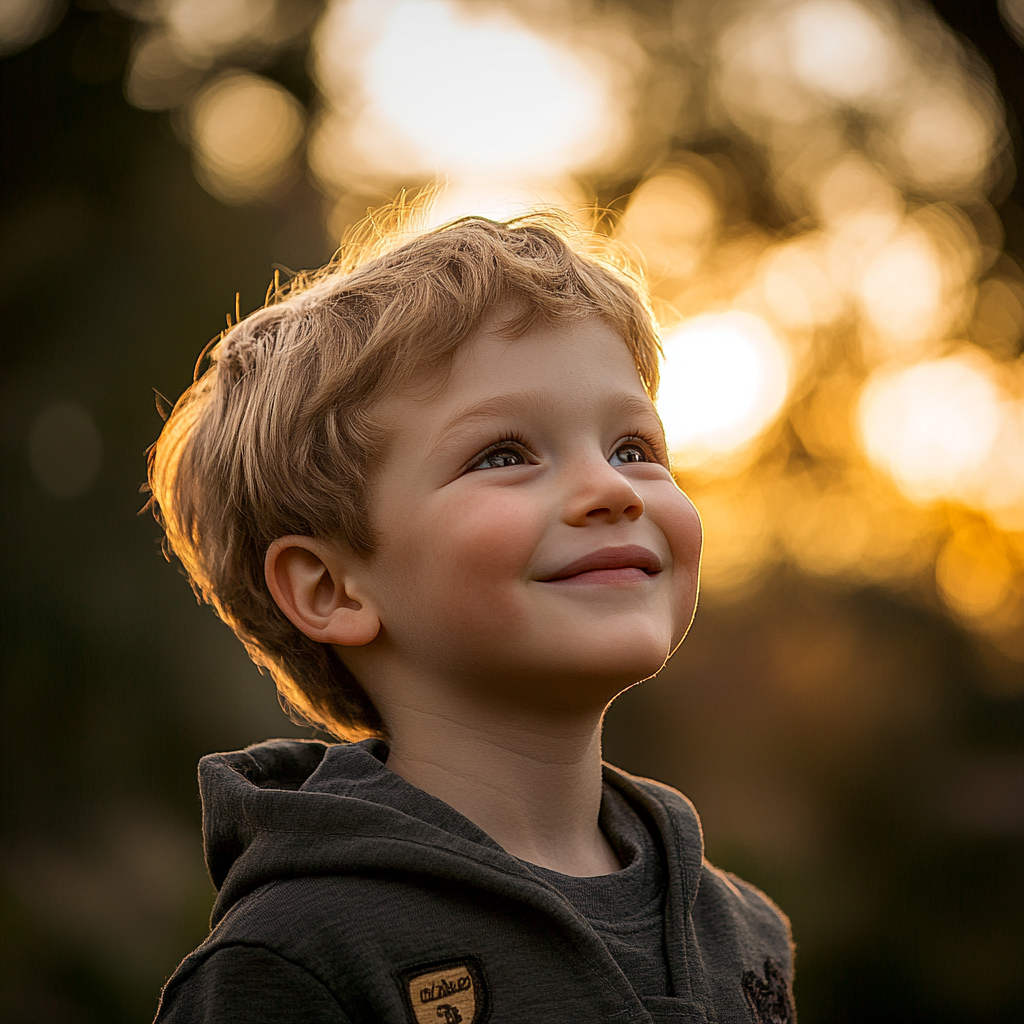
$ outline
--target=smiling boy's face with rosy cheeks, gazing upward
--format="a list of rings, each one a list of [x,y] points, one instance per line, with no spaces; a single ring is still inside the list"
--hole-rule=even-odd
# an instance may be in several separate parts
[[[567,711],[662,668],[693,615],[700,522],[618,335],[594,317],[510,340],[490,321],[441,389],[380,413],[361,585],[390,674]]]

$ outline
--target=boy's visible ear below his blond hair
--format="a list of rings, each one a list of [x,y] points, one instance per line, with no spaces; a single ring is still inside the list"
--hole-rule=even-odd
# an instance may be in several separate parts
[[[380,631],[377,612],[353,592],[346,571],[354,557],[312,537],[279,537],[267,549],[263,570],[270,594],[311,640],[358,647]]]

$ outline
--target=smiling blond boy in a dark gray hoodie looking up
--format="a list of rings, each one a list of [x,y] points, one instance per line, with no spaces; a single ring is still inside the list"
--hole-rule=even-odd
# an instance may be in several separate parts
[[[213,931],[158,1021],[796,1020],[785,918],[601,763],[696,602],[657,357],[639,279],[550,214],[350,246],[212,349],[155,508],[342,742],[203,759]]]

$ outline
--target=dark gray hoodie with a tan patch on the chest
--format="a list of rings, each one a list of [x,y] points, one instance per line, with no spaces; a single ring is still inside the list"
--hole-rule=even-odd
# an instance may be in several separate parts
[[[668,786],[605,767],[667,866],[671,996],[640,998],[556,889],[383,764],[380,740],[271,740],[200,764],[213,931],[166,1024],[793,1024],[788,923],[703,860]]]

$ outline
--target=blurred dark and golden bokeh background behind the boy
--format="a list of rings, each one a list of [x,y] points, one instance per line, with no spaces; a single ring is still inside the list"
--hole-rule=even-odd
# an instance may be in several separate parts
[[[136,516],[275,269],[401,188],[631,247],[706,524],[609,713],[791,914],[804,1024],[1024,1020],[1024,0],[2,0],[4,1020],[148,1020],[195,763],[308,735]]]

